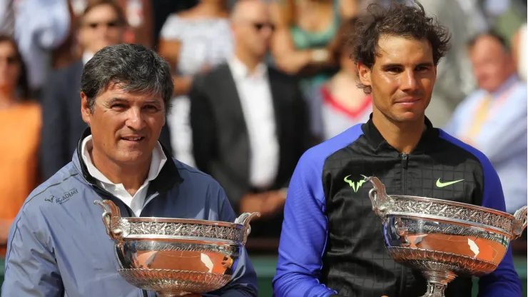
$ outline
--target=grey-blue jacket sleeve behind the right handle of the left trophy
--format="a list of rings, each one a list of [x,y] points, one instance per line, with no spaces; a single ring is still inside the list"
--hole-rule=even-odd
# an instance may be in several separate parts
[[[223,188],[218,183],[215,183],[215,186],[211,186],[211,188],[213,189],[211,189],[210,195],[214,195],[215,197],[211,197],[213,199],[210,201],[220,201],[219,220],[233,223],[235,221],[235,212],[231,208],[227,196],[225,196],[225,191],[223,191]],[[203,294],[203,296],[258,297],[257,273],[255,273],[255,269],[245,247],[240,249],[240,257],[235,260],[233,266],[235,267],[235,271],[233,272],[231,281],[223,288],[208,294]]]

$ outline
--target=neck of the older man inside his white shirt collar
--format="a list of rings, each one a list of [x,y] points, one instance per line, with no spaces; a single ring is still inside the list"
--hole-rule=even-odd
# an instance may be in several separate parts
[[[93,166],[95,166],[97,170],[112,183],[122,183],[123,187],[126,188],[126,191],[131,193],[132,196],[145,182],[148,176],[148,171],[151,167],[152,156],[144,163],[123,166],[111,161],[96,148],[92,148],[88,152],[90,153]]]

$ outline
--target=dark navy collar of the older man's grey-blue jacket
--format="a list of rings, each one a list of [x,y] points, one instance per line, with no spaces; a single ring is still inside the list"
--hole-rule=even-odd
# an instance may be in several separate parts
[[[85,139],[87,136],[91,135],[91,129],[90,127],[86,128],[83,131],[83,134],[81,136],[81,139],[79,139],[77,144],[77,149],[75,153],[73,153],[73,165],[76,166],[77,170],[81,173],[83,178],[91,185],[96,186],[97,185],[97,179],[91,176],[91,174],[88,172],[88,168],[86,167],[86,164],[83,161],[82,157],[82,143],[83,139]],[[163,148],[163,153],[165,153],[166,156],[171,156],[171,152],[167,150],[166,147],[161,145],[161,148]],[[148,186],[148,193],[147,196],[150,196],[152,193],[163,193],[166,191],[169,191],[174,186],[180,184],[183,182],[183,178],[181,177],[178,168],[176,167],[176,163],[172,160],[167,160],[165,164],[163,165],[163,168],[161,168],[160,173],[156,178],[154,178],[151,181],[150,186]]]

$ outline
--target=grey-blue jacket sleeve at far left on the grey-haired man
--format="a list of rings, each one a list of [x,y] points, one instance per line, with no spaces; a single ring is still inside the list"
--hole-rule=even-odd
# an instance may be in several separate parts
[[[48,247],[50,235],[41,230],[41,216],[25,213],[15,218],[9,232],[2,296],[59,297],[64,287]]]

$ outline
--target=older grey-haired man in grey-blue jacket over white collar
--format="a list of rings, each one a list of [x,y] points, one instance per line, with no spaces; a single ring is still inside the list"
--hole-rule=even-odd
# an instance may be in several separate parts
[[[172,159],[158,142],[172,93],[168,63],[143,46],[107,46],[86,63],[81,115],[89,128],[73,160],[16,216],[3,296],[156,296],[119,276],[95,199],[113,201],[124,216],[235,220],[218,182]],[[233,269],[232,281],[206,296],[256,297],[244,249]]]

